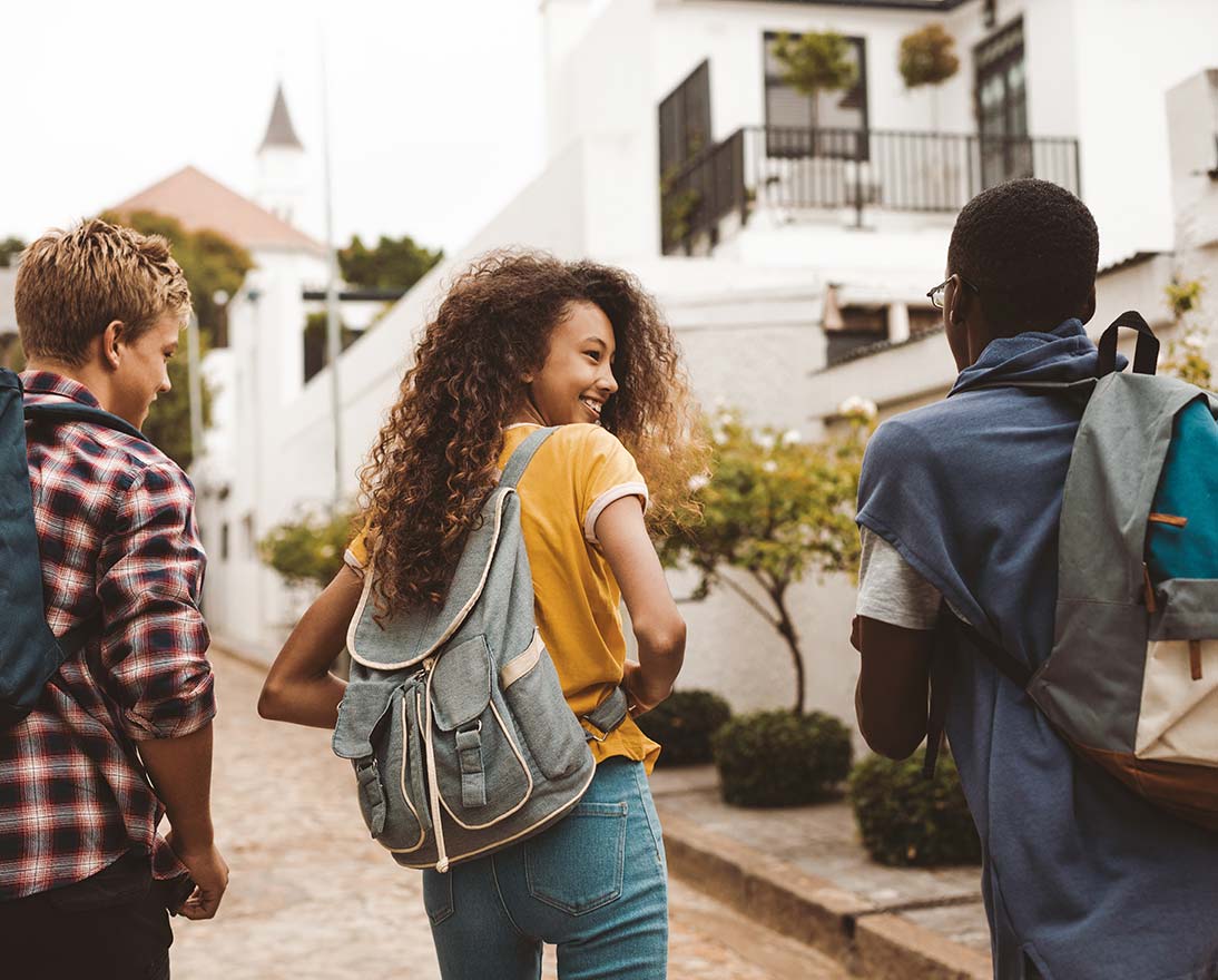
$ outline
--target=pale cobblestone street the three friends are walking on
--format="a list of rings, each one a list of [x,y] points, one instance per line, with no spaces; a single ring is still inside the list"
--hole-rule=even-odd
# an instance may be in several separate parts
[[[213,662],[213,798],[231,882],[217,919],[174,920],[174,980],[438,980],[420,876],[368,840],[328,733],[263,722],[255,709],[262,674],[220,652]],[[672,978],[847,976],[680,881],[671,895]],[[554,976],[549,951],[544,976]]]

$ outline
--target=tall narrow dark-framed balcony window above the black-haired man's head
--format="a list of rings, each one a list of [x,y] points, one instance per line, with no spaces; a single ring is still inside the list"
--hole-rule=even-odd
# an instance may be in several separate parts
[[[1032,177],[1023,21],[1016,21],[977,45],[973,60],[977,65],[982,186]]]

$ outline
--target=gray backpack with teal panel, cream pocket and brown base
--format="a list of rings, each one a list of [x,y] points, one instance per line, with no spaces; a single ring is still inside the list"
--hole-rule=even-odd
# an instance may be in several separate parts
[[[1128,374],[1116,371],[1121,327],[1139,332]],[[1100,340],[1095,380],[1017,385],[1086,399],[1062,501],[1049,659],[1030,672],[968,625],[942,617],[940,628],[962,631],[1080,756],[1218,830],[1218,397],[1155,377],[1157,356],[1150,327],[1129,312]],[[943,687],[932,691],[928,768]]]

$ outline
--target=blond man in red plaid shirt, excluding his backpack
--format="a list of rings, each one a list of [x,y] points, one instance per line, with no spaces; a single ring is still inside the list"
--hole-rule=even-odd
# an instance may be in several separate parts
[[[138,428],[169,390],[190,290],[163,238],[51,232],[22,256],[15,302],[27,405]],[[168,978],[167,909],[211,918],[228,882],[194,491],[133,434],[32,422],[26,436],[48,624],[83,645],[0,729],[0,947],[21,976]]]

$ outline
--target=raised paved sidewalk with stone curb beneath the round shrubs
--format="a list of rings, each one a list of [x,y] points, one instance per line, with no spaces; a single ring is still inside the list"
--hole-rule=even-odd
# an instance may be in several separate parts
[[[773,913],[770,906],[777,902],[778,928],[838,956],[864,975],[888,974],[859,963],[854,936],[860,925],[885,934],[885,957],[895,957],[892,975],[903,980],[990,975],[977,868],[876,864],[862,848],[847,802],[778,809],[730,807],[720,798],[717,775],[709,765],[661,767],[652,776],[652,789],[675,874],[710,882],[721,898],[738,890],[743,911],[760,908],[762,921],[769,921],[765,913]],[[797,881],[798,886],[792,884]],[[760,901],[759,896],[770,897]],[[826,921],[800,925],[792,921],[792,908],[803,908],[808,917],[820,914]]]

